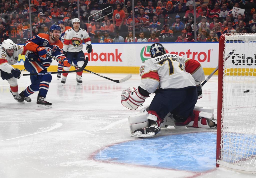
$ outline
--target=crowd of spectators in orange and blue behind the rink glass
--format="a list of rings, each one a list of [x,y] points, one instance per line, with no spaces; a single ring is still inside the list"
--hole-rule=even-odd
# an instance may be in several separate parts
[[[28,0],[0,1],[1,43],[7,38],[24,43],[30,38]],[[49,27],[58,20],[72,27],[72,19],[78,18],[75,0],[30,1],[32,35],[49,34]],[[217,42],[226,32],[256,32],[256,3],[253,0],[199,0],[196,2],[196,26],[191,2],[135,0],[132,9],[129,0],[80,0],[80,28],[86,29],[95,43],[193,42],[195,35],[200,42]],[[109,6],[113,7],[113,14],[111,8],[101,11]],[[233,7],[244,9],[244,13],[232,14]]]

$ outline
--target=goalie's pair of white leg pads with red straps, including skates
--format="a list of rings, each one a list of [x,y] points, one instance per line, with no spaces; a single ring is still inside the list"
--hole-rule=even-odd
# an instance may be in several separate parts
[[[150,126],[157,121],[157,117],[148,113],[149,106],[140,110],[139,114],[128,117],[132,137],[152,137],[160,132],[157,127]],[[214,109],[212,107],[195,106],[193,115],[189,116],[185,122],[178,122],[179,118],[168,113],[161,122],[161,128],[174,126],[176,129],[185,129],[186,127],[195,128],[216,128],[217,121],[214,120]],[[176,118],[176,119],[175,119]],[[197,121],[197,122],[195,122]]]

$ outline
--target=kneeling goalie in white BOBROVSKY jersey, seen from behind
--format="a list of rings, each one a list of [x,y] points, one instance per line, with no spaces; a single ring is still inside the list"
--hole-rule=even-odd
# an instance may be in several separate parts
[[[121,103],[136,110],[150,93],[155,96],[148,107],[128,118],[133,137],[151,137],[161,128],[216,128],[213,109],[195,107],[202,97],[201,81],[205,80],[199,62],[176,54],[166,54],[160,43],[152,44],[151,59],[140,66],[141,83],[138,88],[123,90]]]

